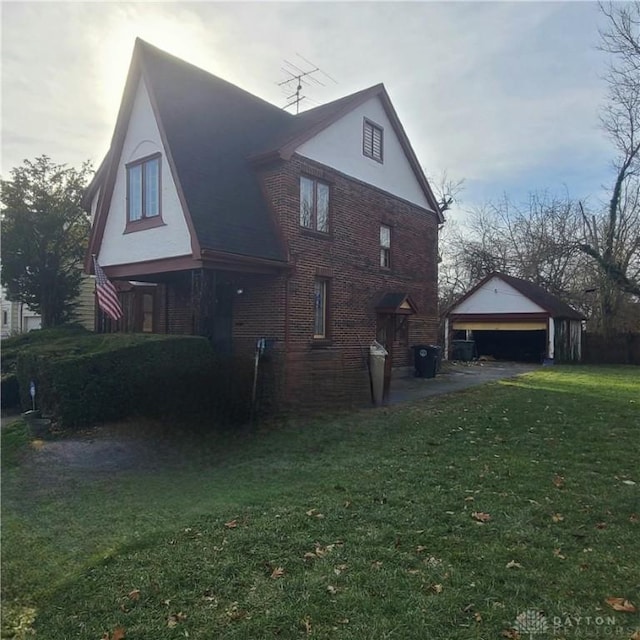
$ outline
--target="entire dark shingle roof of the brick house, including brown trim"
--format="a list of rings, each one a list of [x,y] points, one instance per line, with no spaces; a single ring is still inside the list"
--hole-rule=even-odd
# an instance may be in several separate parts
[[[94,177],[87,190],[87,202],[103,179],[107,186],[114,180],[115,168],[111,164],[124,140],[123,128],[130,113],[138,70],[145,80],[193,224],[197,238],[194,246],[201,250],[285,262],[285,250],[254,162],[260,156],[273,154],[287,159],[305,139],[376,95],[397,121],[382,85],[294,116],[137,39],[118,125],[103,163],[108,170],[101,170]],[[434,211],[441,217],[402,125],[397,121],[394,126],[405,140],[405,150],[425,193],[434,203]],[[92,230],[90,252],[97,252],[104,224],[103,215]]]

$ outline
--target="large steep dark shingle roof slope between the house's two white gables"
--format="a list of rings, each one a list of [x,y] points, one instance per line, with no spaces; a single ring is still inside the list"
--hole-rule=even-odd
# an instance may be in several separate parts
[[[137,46],[201,248],[284,260],[247,157],[293,116],[149,44]]]

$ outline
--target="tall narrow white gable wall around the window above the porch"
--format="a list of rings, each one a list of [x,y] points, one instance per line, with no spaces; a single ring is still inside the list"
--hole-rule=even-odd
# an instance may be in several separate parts
[[[161,211],[165,226],[125,234],[125,165],[158,152],[162,154]],[[118,162],[118,175],[100,247],[99,261],[102,266],[107,266],[184,255],[191,255],[191,235],[169,169],[149,95],[141,80]]]

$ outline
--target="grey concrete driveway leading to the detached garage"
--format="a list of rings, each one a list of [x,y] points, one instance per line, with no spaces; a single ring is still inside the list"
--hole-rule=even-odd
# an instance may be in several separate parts
[[[443,362],[435,378],[416,378],[394,372],[388,404],[470,389],[487,382],[536,371],[541,365],[520,362]]]

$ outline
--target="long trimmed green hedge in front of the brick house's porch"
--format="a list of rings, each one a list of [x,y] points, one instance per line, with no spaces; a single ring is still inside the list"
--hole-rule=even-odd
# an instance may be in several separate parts
[[[237,423],[250,417],[249,359],[216,358],[205,338],[148,338],[122,348],[71,356],[53,348],[45,353],[22,351],[17,367],[22,406],[31,404],[33,380],[37,406],[65,427],[135,415],[191,418],[207,424]]]

